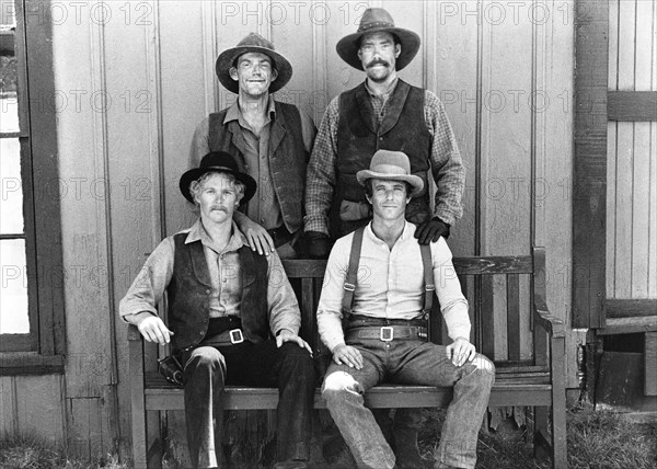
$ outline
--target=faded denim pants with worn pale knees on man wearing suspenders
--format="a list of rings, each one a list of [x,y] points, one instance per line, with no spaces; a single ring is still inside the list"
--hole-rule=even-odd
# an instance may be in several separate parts
[[[476,442],[495,367],[485,356],[454,366],[445,346],[430,342],[356,340],[349,345],[362,354],[361,369],[332,363],[322,396],[359,468],[392,469],[395,457],[362,394],[381,382],[453,387],[453,399],[434,459],[459,468],[474,468]]]

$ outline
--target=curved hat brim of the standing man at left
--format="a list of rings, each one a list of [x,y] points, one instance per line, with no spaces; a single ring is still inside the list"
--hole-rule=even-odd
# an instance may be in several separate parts
[[[276,79],[272,81],[272,84],[269,84],[269,93],[277,92],[290,81],[290,78],[292,78],[292,65],[277,52],[260,46],[232,47],[219,54],[215,65],[217,78],[219,78],[219,82],[223,84],[228,91],[235,94],[240,91],[240,84],[230,76],[230,68],[238,57],[246,53],[265,54],[274,60],[273,65],[276,68],[277,76]]]

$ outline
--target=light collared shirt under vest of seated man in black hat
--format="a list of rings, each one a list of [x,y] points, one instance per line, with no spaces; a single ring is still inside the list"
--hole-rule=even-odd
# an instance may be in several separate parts
[[[217,247],[200,220],[186,232],[185,244],[200,241],[210,273],[212,288],[210,289],[210,318],[226,316],[240,317],[242,301],[242,275],[240,254],[238,250],[246,244],[244,234],[232,224],[232,234],[228,244]],[[257,255],[257,254],[256,254]],[[119,314],[128,322],[140,312],[158,314],[157,304],[162,299],[173,276],[175,261],[175,241],[168,237],[153,250],[143,267],[132,282],[126,296],[120,300]],[[283,329],[298,333],[301,325],[299,304],[287,279],[280,259],[276,252],[267,256],[267,305],[269,311],[269,328],[274,334]]]

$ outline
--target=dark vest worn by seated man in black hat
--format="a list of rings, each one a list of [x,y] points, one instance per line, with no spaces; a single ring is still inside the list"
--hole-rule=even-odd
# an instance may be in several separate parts
[[[173,351],[196,345],[208,330],[210,319],[210,291],[212,281],[200,241],[185,244],[187,233],[173,237],[175,260],[173,276],[166,295],[169,300],[169,329]],[[246,245],[239,249],[242,273],[242,330],[254,343],[269,334],[267,314],[267,259],[254,254]]]

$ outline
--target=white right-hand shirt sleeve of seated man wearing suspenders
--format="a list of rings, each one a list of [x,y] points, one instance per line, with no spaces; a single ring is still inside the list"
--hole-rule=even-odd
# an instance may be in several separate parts
[[[431,243],[431,258],[436,295],[440,301],[440,312],[445,318],[448,335],[451,340],[457,338],[470,340],[468,300],[461,291],[461,283],[452,264],[452,253],[442,237]]]

